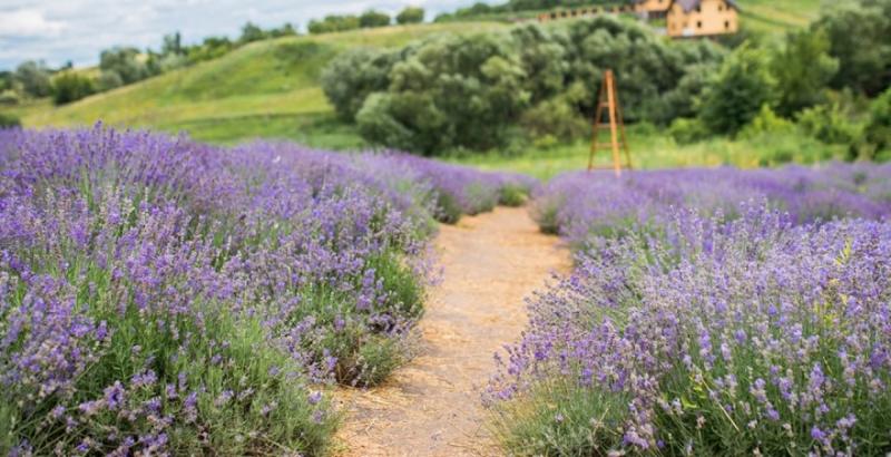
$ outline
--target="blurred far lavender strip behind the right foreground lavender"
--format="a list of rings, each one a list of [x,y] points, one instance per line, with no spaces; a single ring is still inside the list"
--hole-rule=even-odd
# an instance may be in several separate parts
[[[819,168],[634,172],[558,176],[535,195],[533,216],[545,232],[584,249],[599,236],[657,230],[676,208],[722,211],[733,217],[741,202],[766,200],[797,222],[891,214],[891,167],[830,164]]]

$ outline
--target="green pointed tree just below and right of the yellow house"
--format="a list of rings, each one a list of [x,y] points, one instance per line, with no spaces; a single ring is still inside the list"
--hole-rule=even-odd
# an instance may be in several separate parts
[[[768,69],[767,52],[747,45],[724,61],[705,91],[699,113],[712,133],[735,135],[762,107],[774,105],[775,81]]]

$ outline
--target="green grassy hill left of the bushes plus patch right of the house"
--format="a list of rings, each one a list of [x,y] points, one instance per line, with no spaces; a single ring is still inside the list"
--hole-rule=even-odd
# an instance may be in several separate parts
[[[776,32],[810,22],[820,0],[742,0],[743,21]],[[509,27],[501,21],[443,22],[290,37],[255,42],[219,59],[55,108],[47,101],[12,108],[28,127],[89,125],[188,132],[213,143],[288,138],[327,148],[361,147],[337,121],[319,85],[325,64],[355,46],[395,47],[428,35]],[[10,110],[10,109],[8,109]]]

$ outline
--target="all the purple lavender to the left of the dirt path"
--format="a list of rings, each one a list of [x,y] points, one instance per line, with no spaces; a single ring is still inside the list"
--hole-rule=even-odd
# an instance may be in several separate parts
[[[479,212],[515,181],[0,132],[0,454],[323,451],[336,414],[319,386],[375,383],[403,358],[441,195]]]

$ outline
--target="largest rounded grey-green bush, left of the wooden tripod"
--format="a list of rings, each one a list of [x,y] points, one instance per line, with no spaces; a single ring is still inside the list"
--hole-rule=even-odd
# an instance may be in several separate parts
[[[410,50],[390,89],[356,115],[368,140],[427,155],[502,146],[529,104],[525,74],[503,35],[442,36]]]

